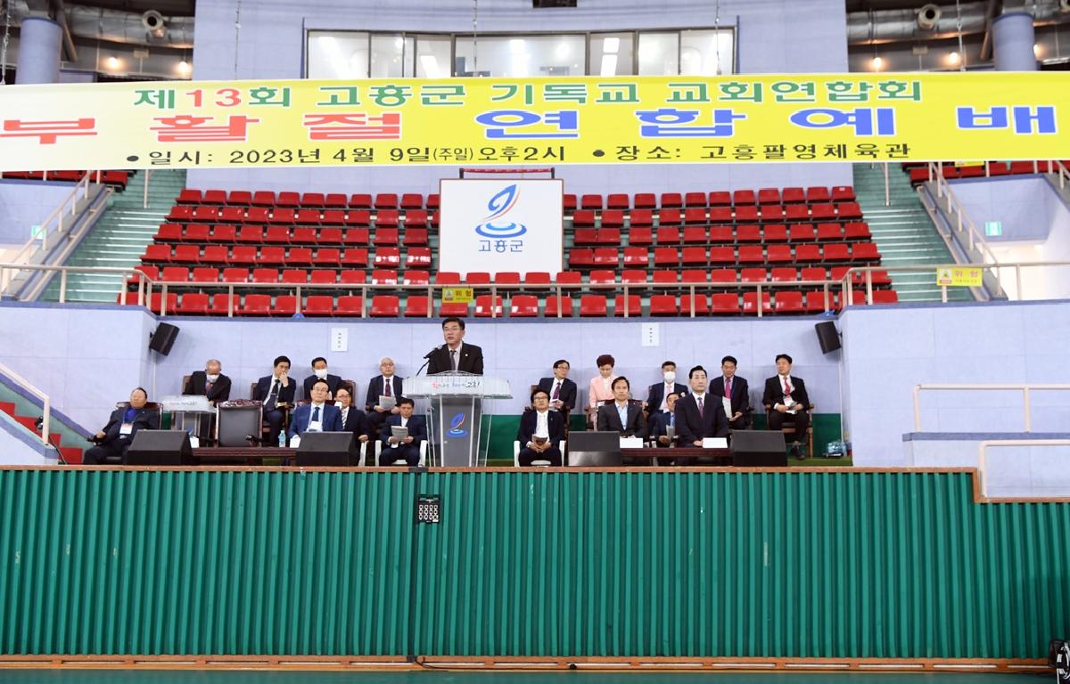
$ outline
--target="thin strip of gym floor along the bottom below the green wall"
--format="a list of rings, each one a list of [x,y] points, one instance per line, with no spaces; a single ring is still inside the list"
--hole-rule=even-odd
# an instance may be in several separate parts
[[[3,670],[3,684],[1039,684],[1052,674],[991,672],[263,672]]]

